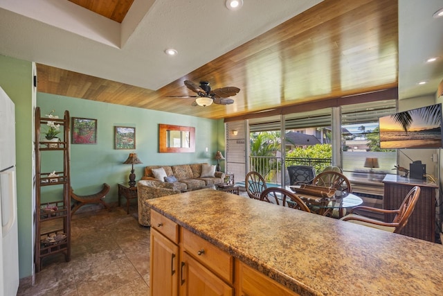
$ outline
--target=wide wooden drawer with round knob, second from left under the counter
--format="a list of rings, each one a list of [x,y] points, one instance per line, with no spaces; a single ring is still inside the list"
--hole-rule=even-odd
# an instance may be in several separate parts
[[[183,248],[188,254],[228,283],[233,283],[233,256],[187,229],[182,229],[181,234]]]

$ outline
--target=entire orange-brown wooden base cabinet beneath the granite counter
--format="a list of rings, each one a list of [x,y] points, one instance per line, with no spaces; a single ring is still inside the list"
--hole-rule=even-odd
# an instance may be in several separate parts
[[[153,210],[151,225],[151,296],[298,295]]]

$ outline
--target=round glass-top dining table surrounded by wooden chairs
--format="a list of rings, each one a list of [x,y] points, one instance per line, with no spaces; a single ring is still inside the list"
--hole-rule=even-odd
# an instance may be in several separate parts
[[[287,190],[291,190],[291,186],[286,186]],[[332,216],[332,211],[338,209],[338,218],[341,218],[345,214],[345,209],[352,209],[353,207],[363,204],[363,200],[357,195],[352,193],[347,193],[343,198],[332,198],[332,200],[320,201],[321,198],[318,196],[306,195],[296,193],[306,204],[318,207],[319,211],[317,214],[323,216]]]

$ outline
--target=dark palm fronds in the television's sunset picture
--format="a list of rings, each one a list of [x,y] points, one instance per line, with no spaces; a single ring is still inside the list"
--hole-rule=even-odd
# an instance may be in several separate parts
[[[392,114],[392,119],[401,125],[401,128],[408,134],[408,128],[413,123],[413,114],[422,117],[426,123],[439,125],[442,122],[441,107],[439,104],[422,107],[419,109]]]

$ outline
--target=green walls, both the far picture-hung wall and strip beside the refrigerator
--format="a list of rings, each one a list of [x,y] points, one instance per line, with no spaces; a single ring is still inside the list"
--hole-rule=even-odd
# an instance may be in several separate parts
[[[0,55],[0,86],[15,103],[17,153],[17,207],[19,226],[19,276],[33,274],[33,63]],[[222,120],[157,112],[135,107],[88,101],[80,98],[37,94],[41,114],[55,110],[62,116],[97,119],[97,144],[71,145],[71,186],[82,194],[96,193],[107,182],[111,191],[106,201],[117,198],[117,183],[128,182],[131,166],[122,164],[132,150],[114,149],[114,126],[136,128],[136,153],[143,164],[134,166],[136,180],[143,168],[153,164],[188,164],[209,162],[217,150],[224,151]],[[195,153],[158,153],[158,125],[193,126],[196,130]],[[206,152],[208,148],[208,152]]]

